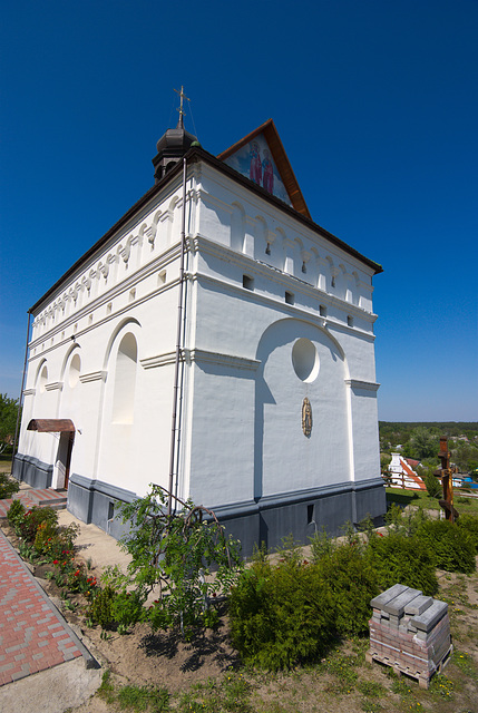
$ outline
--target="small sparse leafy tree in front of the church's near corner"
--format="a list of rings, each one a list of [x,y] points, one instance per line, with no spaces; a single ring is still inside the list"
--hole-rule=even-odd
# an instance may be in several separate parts
[[[173,497],[178,509],[168,514]],[[153,628],[209,626],[217,619],[209,604],[227,594],[241,569],[241,543],[226,538],[212,510],[184,502],[160,486],[120,508],[130,531],[121,539],[131,555],[128,575],[109,570],[109,585],[146,599],[153,589],[157,599],[147,609]],[[215,570],[212,576],[213,569]]]

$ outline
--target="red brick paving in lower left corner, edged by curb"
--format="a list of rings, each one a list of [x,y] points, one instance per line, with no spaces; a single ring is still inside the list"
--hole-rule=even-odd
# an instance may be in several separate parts
[[[0,530],[0,686],[91,655]]]

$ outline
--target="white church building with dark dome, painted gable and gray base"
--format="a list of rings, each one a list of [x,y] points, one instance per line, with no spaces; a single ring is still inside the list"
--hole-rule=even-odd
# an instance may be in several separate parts
[[[155,185],[29,310],[14,476],[114,536],[158,484],[276,546],[386,510],[372,277],[315,224],[272,120]]]

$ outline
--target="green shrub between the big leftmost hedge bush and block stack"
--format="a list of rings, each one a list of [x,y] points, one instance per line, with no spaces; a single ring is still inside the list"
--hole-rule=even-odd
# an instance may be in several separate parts
[[[370,599],[379,594],[378,574],[359,544],[345,544],[318,564],[333,600],[333,625],[340,636],[368,631]]]

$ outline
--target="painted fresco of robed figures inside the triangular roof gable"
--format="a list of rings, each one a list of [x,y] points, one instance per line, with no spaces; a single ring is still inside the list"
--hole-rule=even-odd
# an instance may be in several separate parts
[[[276,198],[292,205],[263,134],[257,134],[248,144],[225,158],[224,163],[272,193]]]

